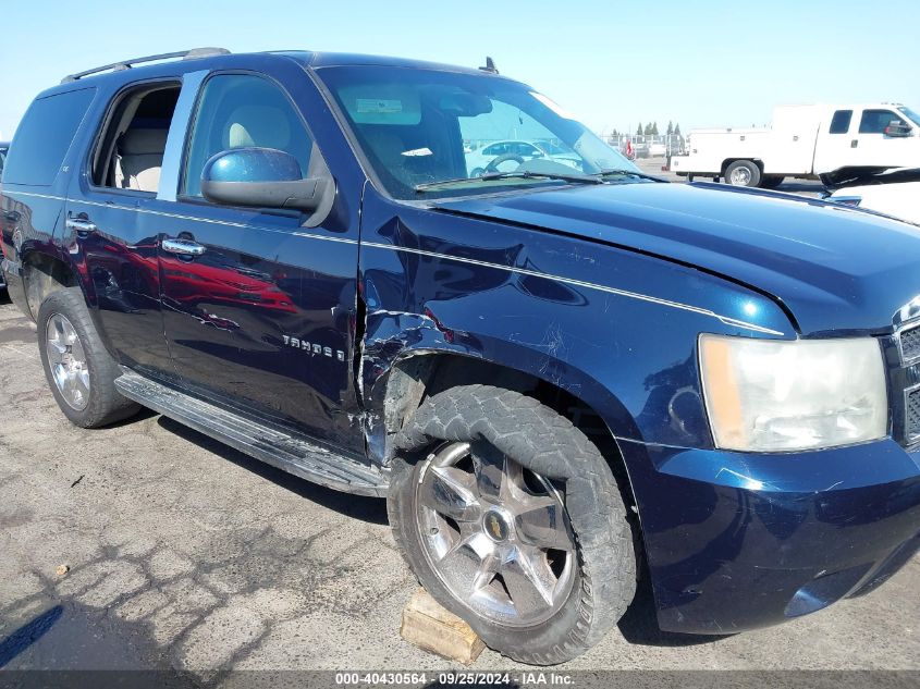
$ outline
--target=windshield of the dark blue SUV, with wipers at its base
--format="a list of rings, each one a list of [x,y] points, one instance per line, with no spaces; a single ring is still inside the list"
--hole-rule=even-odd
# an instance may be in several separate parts
[[[638,171],[549,98],[511,79],[366,65],[317,72],[395,198],[494,193],[567,184],[608,170]]]

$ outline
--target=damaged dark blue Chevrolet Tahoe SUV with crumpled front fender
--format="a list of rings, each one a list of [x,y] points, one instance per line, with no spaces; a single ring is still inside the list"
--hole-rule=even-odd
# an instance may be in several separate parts
[[[663,183],[491,64],[156,58],[38,96],[3,173],[74,423],[143,405],[385,495],[425,587],[529,663],[641,571],[662,628],[723,633],[917,551],[917,227]],[[492,142],[542,152],[474,170]]]

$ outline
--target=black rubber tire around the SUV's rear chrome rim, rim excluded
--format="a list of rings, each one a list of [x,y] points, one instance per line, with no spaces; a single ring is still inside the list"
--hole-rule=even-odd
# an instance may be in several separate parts
[[[47,332],[48,321],[56,315],[63,316],[79,337],[89,373],[89,394],[86,406],[74,408],[64,398],[54,381],[49,364]],[[38,309],[38,349],[45,378],[64,416],[75,426],[98,428],[134,416],[140,406],[122,396],[114,386],[114,380],[121,376],[118,364],[99,339],[86,302],[79,287],[66,287],[51,293]]]

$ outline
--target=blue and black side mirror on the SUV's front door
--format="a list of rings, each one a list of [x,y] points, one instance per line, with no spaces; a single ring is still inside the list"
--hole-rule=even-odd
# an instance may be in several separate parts
[[[212,156],[201,171],[201,194],[228,206],[316,210],[329,180],[304,179],[291,153],[274,148],[233,148]]]

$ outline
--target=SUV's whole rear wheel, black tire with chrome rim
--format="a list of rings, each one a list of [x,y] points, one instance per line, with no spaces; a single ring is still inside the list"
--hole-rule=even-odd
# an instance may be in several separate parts
[[[38,309],[37,322],[45,377],[72,423],[98,428],[140,410],[115,389],[121,370],[99,339],[79,287],[51,293]]]

